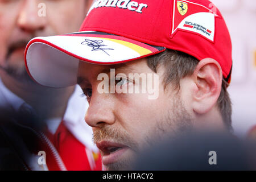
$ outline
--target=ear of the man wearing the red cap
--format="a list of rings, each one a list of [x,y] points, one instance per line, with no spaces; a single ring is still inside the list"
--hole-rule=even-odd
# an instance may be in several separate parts
[[[192,77],[196,84],[192,98],[193,111],[205,114],[214,107],[220,96],[222,69],[216,60],[206,58],[199,61]]]

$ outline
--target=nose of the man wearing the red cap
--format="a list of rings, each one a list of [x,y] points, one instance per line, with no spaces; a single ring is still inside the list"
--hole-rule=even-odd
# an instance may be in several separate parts
[[[85,122],[92,127],[112,125],[115,122],[114,101],[110,94],[92,94]]]

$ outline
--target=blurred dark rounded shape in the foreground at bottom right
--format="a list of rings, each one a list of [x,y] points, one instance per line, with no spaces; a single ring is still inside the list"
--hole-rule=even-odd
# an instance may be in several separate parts
[[[220,131],[193,131],[146,148],[138,155],[133,170],[255,170],[255,152],[255,141]]]

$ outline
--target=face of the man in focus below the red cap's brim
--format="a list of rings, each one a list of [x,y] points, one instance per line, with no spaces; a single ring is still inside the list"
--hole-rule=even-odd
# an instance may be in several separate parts
[[[154,72],[147,66],[146,59],[118,65],[84,62],[79,65],[77,82],[89,102],[85,121],[93,127],[93,140],[100,148],[102,163],[109,170],[130,169],[137,152],[165,134],[173,134],[189,126],[191,118],[182,96],[170,88],[164,89],[162,67],[158,69],[159,95],[154,100],[148,99],[149,93],[99,92],[102,80],[98,75],[102,73],[108,74],[107,82],[111,89],[110,68],[115,68],[116,91],[138,84],[130,79],[129,73],[154,75]],[[122,80],[117,79],[118,73],[123,73]],[[153,82],[152,85],[156,84],[155,80]]]

